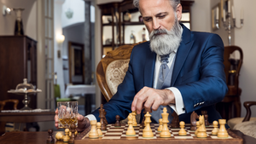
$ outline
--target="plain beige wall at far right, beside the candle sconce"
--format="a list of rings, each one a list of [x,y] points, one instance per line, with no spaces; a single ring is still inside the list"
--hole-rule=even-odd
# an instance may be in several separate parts
[[[243,50],[243,64],[241,66],[239,85],[241,91],[241,104],[244,101],[256,101],[256,49],[255,49],[255,37],[256,37],[256,19],[253,14],[256,14],[255,9],[256,1],[234,1],[234,7],[236,9],[236,25],[240,26],[241,8],[244,9],[244,26],[241,29],[235,29],[234,43],[241,47]],[[254,64],[253,64],[254,63]],[[256,107],[252,107],[252,116],[256,117]],[[241,106],[241,116],[245,116],[246,110]]]

